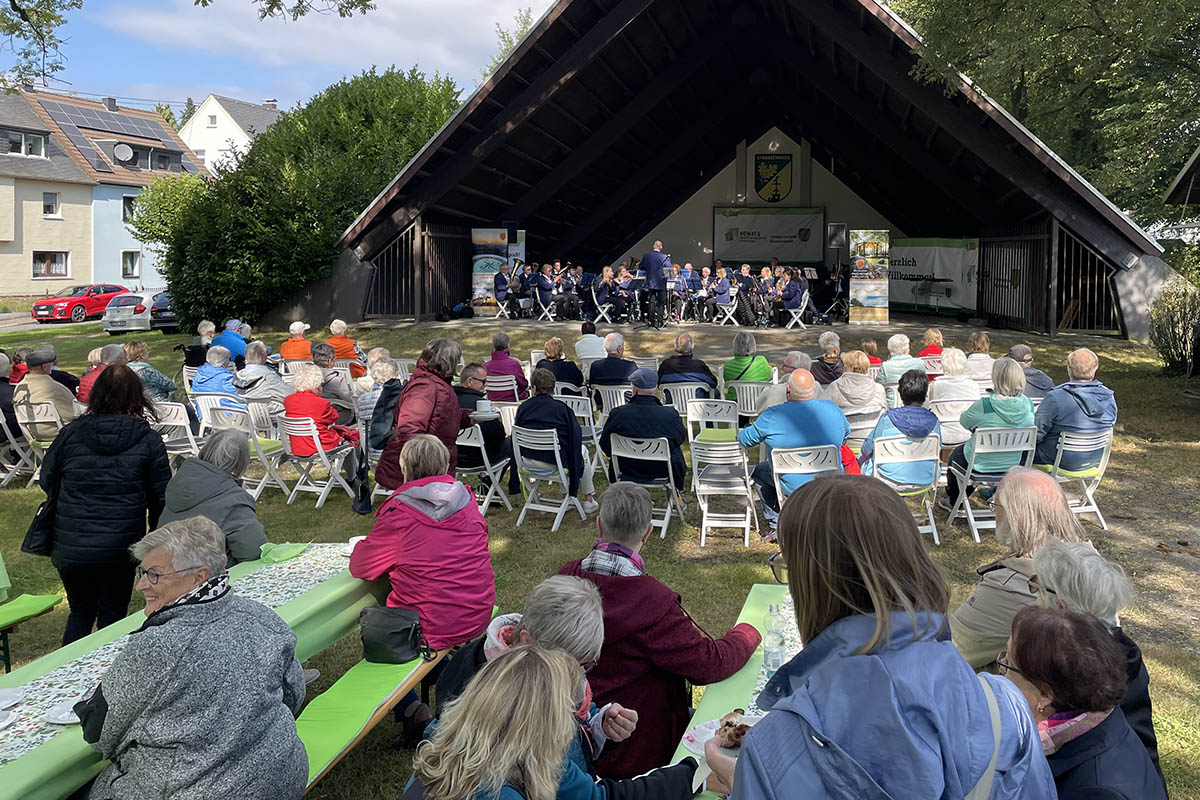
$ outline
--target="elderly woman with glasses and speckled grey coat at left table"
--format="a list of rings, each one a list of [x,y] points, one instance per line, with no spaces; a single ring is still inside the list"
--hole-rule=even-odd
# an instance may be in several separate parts
[[[146,619],[76,705],[84,740],[110,762],[89,796],[299,799],[308,757],[295,634],[234,594],[211,521],[169,523],[132,552]]]

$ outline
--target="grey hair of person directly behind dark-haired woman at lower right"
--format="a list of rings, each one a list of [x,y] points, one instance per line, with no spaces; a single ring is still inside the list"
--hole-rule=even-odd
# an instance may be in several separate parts
[[[1054,591],[1039,591],[1039,603],[1054,607],[1061,600],[1110,627],[1120,624],[1117,614],[1133,602],[1133,584],[1124,570],[1087,542],[1050,540],[1033,555],[1033,572],[1042,587]]]

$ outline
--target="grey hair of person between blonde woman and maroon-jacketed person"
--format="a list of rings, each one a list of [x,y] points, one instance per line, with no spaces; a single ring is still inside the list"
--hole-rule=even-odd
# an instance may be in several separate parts
[[[580,663],[600,658],[604,603],[595,584],[570,575],[546,578],[526,597],[515,634],[524,631],[540,648],[565,651]]]

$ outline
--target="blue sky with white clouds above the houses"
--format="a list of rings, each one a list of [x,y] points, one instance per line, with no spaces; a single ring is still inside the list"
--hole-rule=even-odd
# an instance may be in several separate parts
[[[536,19],[548,0],[377,0],[350,19],[311,13],[259,20],[252,0],[84,0],[60,36],[66,68],[49,89],[112,95],[128,106],[209,94],[251,102],[304,103],[344,76],[372,66],[452,77],[466,98],[497,49],[496,24],[522,7]],[[86,95],[85,95],[86,96]]]

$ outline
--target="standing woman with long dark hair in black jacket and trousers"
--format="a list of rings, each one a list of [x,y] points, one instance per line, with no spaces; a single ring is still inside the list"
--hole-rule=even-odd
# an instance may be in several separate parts
[[[41,485],[58,495],[50,558],[71,613],[70,644],[128,613],[130,547],[158,527],[170,467],[142,380],[126,366],[101,373],[88,413],[65,427],[46,452]]]

